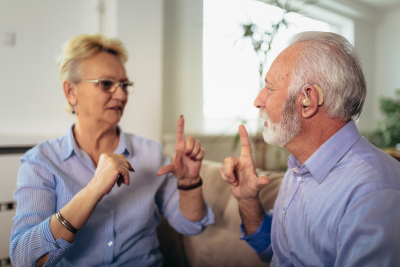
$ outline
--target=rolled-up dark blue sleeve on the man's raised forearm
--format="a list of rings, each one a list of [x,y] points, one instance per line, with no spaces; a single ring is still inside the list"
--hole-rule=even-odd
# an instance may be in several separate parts
[[[271,225],[272,215],[265,212],[264,220],[261,222],[257,231],[253,234],[246,236],[243,228],[243,223],[240,225],[242,235],[241,240],[245,240],[247,244],[258,254],[260,260],[270,262],[273,251],[271,246]]]

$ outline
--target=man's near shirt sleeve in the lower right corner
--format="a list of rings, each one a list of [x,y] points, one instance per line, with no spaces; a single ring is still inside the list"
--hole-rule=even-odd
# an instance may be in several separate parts
[[[353,198],[339,224],[335,266],[400,266],[400,190]]]

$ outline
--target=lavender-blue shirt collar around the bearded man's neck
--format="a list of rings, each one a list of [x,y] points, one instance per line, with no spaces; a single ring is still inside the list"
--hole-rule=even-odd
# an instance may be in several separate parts
[[[302,166],[299,166],[300,161],[293,155],[290,155],[288,159],[288,166],[292,171],[299,174],[310,172],[320,184],[336,163],[360,138],[361,135],[357,130],[356,124],[353,120],[350,120],[320,146]]]

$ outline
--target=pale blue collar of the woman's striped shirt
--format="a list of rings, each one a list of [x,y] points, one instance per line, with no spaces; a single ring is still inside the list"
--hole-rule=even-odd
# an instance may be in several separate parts
[[[74,137],[74,124],[69,127],[67,133],[64,135],[63,147],[61,151],[61,156],[63,160],[70,158],[74,153],[79,154],[81,149],[75,141]],[[114,151],[115,154],[123,154],[124,156],[132,155],[132,145],[129,138],[121,131],[121,128],[117,126],[117,131],[119,133],[119,144],[117,149]]]

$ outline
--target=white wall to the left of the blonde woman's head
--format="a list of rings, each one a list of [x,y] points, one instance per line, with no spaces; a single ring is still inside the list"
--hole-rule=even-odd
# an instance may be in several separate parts
[[[56,55],[71,36],[97,30],[96,1],[0,1],[0,30],[16,34],[0,45],[0,133],[64,133],[74,117],[58,78]]]

